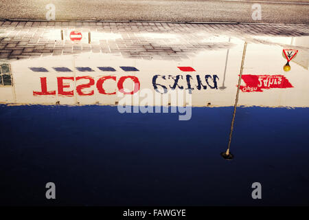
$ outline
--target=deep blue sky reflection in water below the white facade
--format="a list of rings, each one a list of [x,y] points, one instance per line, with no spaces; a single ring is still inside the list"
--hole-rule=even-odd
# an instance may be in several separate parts
[[[0,105],[0,204],[308,205],[309,108],[125,113],[102,106]],[[56,184],[56,200],[45,184]],[[262,184],[262,199],[251,184]]]

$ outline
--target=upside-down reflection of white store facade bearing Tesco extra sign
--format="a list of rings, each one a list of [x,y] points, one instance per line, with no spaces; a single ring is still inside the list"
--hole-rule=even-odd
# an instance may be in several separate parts
[[[231,43],[228,50],[204,50],[181,61],[91,52],[3,60],[0,102],[115,105],[120,97],[134,96],[143,89],[150,89],[154,98],[176,89],[192,94],[192,107],[233,106],[244,41],[228,36],[222,39]],[[265,37],[263,41],[268,43],[248,42],[238,105],[308,107],[309,96],[300,95],[309,94],[308,37]],[[289,72],[283,68],[284,50],[297,50]],[[139,105],[141,101],[126,104]],[[176,103],[185,104],[185,100]]]

